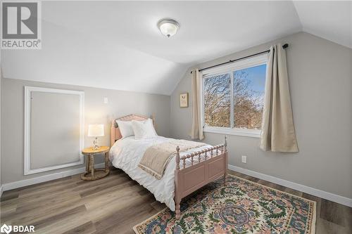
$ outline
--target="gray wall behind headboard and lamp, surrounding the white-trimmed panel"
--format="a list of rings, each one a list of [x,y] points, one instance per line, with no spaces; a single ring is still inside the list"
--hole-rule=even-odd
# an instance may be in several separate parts
[[[79,165],[23,176],[24,86],[84,91],[86,133],[84,146],[91,146],[94,140],[87,137],[88,124],[105,124],[106,136],[99,138],[99,141],[103,145],[110,145],[111,119],[132,113],[145,116],[155,113],[156,131],[161,136],[170,136],[170,96],[3,78],[1,86],[3,97],[1,100],[1,141],[3,145],[1,173],[3,183],[84,167],[84,165]],[[108,98],[108,104],[103,103],[104,97]],[[99,162],[103,162],[102,159],[97,163]]]

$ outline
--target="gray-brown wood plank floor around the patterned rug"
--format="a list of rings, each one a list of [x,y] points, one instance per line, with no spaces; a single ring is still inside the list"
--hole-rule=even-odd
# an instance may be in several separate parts
[[[258,178],[230,174],[317,202],[316,233],[352,233],[352,208]],[[34,225],[35,233],[134,233],[132,226],[165,207],[124,172],[97,181],[69,176],[4,192],[1,225]]]

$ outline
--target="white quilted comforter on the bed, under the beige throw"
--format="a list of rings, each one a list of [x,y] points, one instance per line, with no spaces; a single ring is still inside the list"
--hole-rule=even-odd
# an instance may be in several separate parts
[[[115,142],[113,147],[111,147],[109,157],[114,167],[125,171],[134,181],[137,181],[140,185],[151,191],[156,200],[165,203],[172,211],[175,211],[175,202],[173,200],[175,191],[175,157],[170,161],[168,167],[166,167],[165,174],[161,180],[158,180],[138,167],[139,161],[149,146],[170,140],[172,139],[163,136],[139,140],[134,139],[134,136],[129,136]],[[188,150],[180,153],[180,156],[208,147],[210,145]]]

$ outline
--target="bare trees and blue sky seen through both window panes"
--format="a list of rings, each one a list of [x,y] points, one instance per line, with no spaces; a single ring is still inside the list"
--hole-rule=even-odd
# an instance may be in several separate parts
[[[209,127],[260,129],[266,64],[203,78],[203,120]]]

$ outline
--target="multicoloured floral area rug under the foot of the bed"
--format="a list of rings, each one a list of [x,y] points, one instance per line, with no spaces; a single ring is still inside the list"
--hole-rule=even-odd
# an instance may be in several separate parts
[[[236,176],[209,183],[181,202],[181,219],[165,208],[134,226],[152,233],[315,233],[314,201]]]

